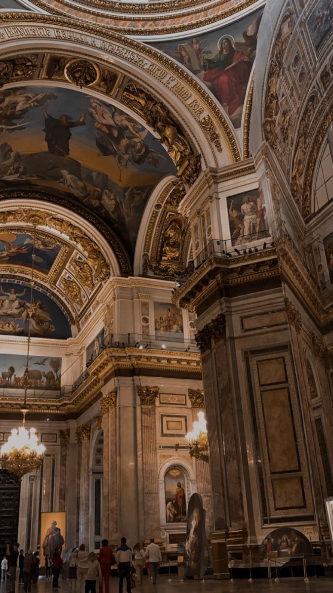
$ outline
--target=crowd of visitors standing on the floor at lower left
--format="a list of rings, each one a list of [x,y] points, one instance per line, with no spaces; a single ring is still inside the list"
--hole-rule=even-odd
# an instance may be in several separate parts
[[[11,591],[8,593],[15,593],[15,581],[17,573],[17,565],[20,568],[18,584],[24,584],[24,593],[31,593],[31,585],[37,582],[39,578],[39,553],[28,549],[24,554],[24,550],[20,550],[20,544],[15,543],[9,548],[7,544],[6,555],[1,561],[1,580],[11,581]],[[99,592],[103,593],[103,581],[105,593],[109,593],[109,578],[111,575],[111,566],[117,565],[119,570],[119,593],[123,593],[123,582],[126,581],[126,591],[131,592],[133,583],[133,571],[136,574],[137,585],[142,585],[143,568],[147,566],[152,582],[156,584],[159,564],[161,563],[161,550],[151,539],[151,543],[147,546],[146,551],[139,543],[135,544],[133,552],[127,546],[126,537],[121,538],[121,543],[113,555],[111,548],[108,546],[108,540],[102,541],[102,547],[98,556],[94,552],[89,552],[84,544],[81,544],[79,549],[73,548],[71,556],[69,557],[68,578],[71,582],[71,590],[77,588],[78,593],[96,593],[96,584],[99,581]],[[59,588],[59,576],[63,567],[63,560],[61,557],[61,550],[56,547],[52,554],[45,556],[45,573],[46,579],[53,575],[52,586],[55,589]]]

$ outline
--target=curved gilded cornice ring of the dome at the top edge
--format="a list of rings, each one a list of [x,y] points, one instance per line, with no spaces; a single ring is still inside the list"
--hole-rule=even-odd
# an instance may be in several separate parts
[[[233,6],[228,8],[228,0],[217,0],[217,2],[214,2],[213,7],[211,6],[211,2],[209,3],[209,5],[207,5],[207,12],[210,13],[210,16],[205,17],[204,16],[204,11],[202,8],[197,8],[197,9],[193,9],[193,10],[186,10],[185,14],[187,17],[189,17],[188,19],[184,18],[184,8],[182,8],[181,11],[181,15],[180,14],[175,14],[172,12],[169,12],[168,14],[168,19],[166,20],[165,16],[163,16],[161,18],[161,27],[155,27],[152,28],[151,24],[152,21],[154,23],[158,22],[158,15],[154,14],[153,16],[153,20],[152,17],[146,17],[146,16],[140,16],[140,17],[136,17],[135,16],[135,12],[131,11],[132,14],[130,15],[130,17],[128,17],[128,19],[126,18],[126,14],[124,14],[124,12],[126,12],[126,6],[131,6],[131,4],[126,5],[124,2],[107,2],[107,5],[117,5],[115,7],[115,9],[120,9],[121,14],[107,14],[106,12],[103,14],[103,12],[97,11],[97,10],[92,10],[91,9],[91,3],[90,0],[86,0],[87,4],[89,1],[89,7],[90,8],[85,8],[84,6],[80,5],[79,7],[75,4],[72,4],[71,2],[68,2],[67,0],[33,0],[33,4],[36,5],[37,7],[46,10],[47,12],[51,13],[51,14],[55,14],[55,15],[63,15],[64,13],[68,14],[70,18],[80,18],[79,15],[80,13],[82,15],[85,15],[85,17],[81,17],[82,20],[84,20],[84,18],[86,18],[87,20],[89,20],[89,15],[93,15],[95,18],[98,17],[98,24],[99,25],[103,25],[105,27],[114,27],[114,28],[118,28],[121,31],[124,31],[124,33],[126,33],[127,35],[137,35],[140,34],[141,35],[168,35],[170,33],[178,33],[181,31],[187,31],[187,30],[191,30],[194,25],[195,27],[205,27],[207,25],[210,25],[212,23],[216,23],[216,21],[220,21],[222,18],[227,18],[230,17],[234,14],[237,14],[238,12],[240,12],[241,10],[244,10],[245,8],[249,8],[251,7],[253,4],[255,4],[255,2],[257,2],[257,0],[239,0],[238,4],[235,5],[235,2],[233,2]],[[98,1],[98,0],[97,0]],[[190,0],[184,0],[185,2],[189,2]],[[199,4],[202,7],[202,4],[199,1]],[[194,0],[194,2],[196,3],[197,0]],[[85,2],[83,2],[82,4],[85,4]],[[157,4],[157,3],[156,3]],[[165,2],[161,2],[158,3],[159,7],[162,8],[162,12],[164,11],[164,4]],[[167,3],[168,4],[168,3]],[[170,1],[169,4],[176,4],[175,2]],[[177,0],[177,4],[178,4],[178,0]],[[223,5],[227,4],[227,7],[224,10],[221,10],[221,8],[223,7]],[[133,5],[133,4],[132,4]],[[191,4],[193,5],[193,4]],[[134,5],[133,5],[134,6]],[[148,10],[149,12],[151,12],[151,7],[153,6],[153,4],[151,4],[151,2],[147,2],[146,4],[140,4],[140,5],[136,5],[136,10],[140,11],[140,12],[145,12],[145,10]],[[206,8],[206,7],[204,7]],[[113,9],[113,10],[115,10]],[[119,11],[119,12],[120,12]],[[168,12],[168,11],[167,11]],[[212,15],[213,12],[213,15]],[[193,20],[193,16],[194,15],[198,15],[198,20]],[[87,16],[86,16],[87,15]],[[202,15],[202,16],[201,16]],[[179,21],[178,23],[175,21]],[[169,26],[166,25],[166,23],[169,23]],[[133,24],[136,24],[136,26],[133,27]],[[80,23],[81,25],[81,23]]]

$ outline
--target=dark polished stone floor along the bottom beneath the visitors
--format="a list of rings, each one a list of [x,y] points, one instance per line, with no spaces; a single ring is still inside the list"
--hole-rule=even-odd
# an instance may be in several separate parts
[[[80,593],[76,589],[71,589],[69,581],[59,581],[61,585],[59,593]],[[9,583],[8,583],[9,585]],[[7,589],[9,591],[9,589]],[[168,575],[161,575],[158,578],[157,585],[153,585],[148,577],[144,578],[143,586],[137,586],[136,593],[149,593],[158,590],[158,593],[332,593],[333,578],[319,577],[310,578],[309,582],[304,582],[302,578],[283,578],[280,582],[269,582],[268,579],[253,579],[252,582],[246,579],[235,579],[234,581],[180,581],[177,575],[171,575],[171,581],[168,581]],[[0,591],[5,592],[4,583],[1,582]],[[39,579],[38,585],[33,585],[32,593],[52,593],[52,583],[45,578]],[[118,579],[110,579],[110,593],[117,593]],[[23,586],[17,586],[15,593],[23,593]],[[126,588],[124,586],[124,593]]]

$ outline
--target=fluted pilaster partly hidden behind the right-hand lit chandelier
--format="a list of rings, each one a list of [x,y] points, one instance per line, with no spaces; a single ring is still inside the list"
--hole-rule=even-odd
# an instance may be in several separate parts
[[[204,392],[201,389],[189,389],[188,398],[192,404],[192,422],[197,420],[198,412],[204,412]],[[210,478],[209,463],[200,459],[196,460],[197,491],[203,499],[203,508],[206,510],[206,533],[214,531],[212,480]]]

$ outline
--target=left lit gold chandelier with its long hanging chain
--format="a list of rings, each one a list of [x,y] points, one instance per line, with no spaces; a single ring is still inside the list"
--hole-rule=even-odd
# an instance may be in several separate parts
[[[35,262],[35,243],[36,243],[36,227],[34,227],[34,238],[33,238],[33,253],[31,254],[32,265],[31,265],[31,291],[30,291],[30,307],[28,308],[28,315],[31,318],[33,313],[33,286],[34,286],[34,262]],[[20,479],[24,474],[30,473],[30,471],[37,470],[40,467],[41,460],[45,451],[44,445],[39,445],[38,438],[36,435],[36,428],[30,428],[27,431],[25,428],[25,415],[28,412],[27,408],[27,391],[28,391],[28,378],[29,378],[29,350],[30,350],[30,329],[31,323],[29,323],[28,330],[28,341],[27,341],[27,365],[24,371],[24,402],[21,409],[23,414],[22,426],[18,429],[13,428],[11,436],[8,441],[2,445],[0,449],[0,463],[3,470],[8,470],[11,473],[16,474]]]

